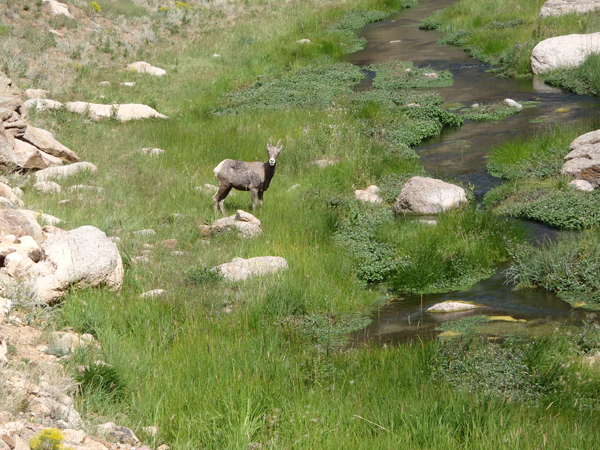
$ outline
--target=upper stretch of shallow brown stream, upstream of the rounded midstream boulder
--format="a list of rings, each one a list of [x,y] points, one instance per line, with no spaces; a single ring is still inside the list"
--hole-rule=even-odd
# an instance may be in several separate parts
[[[419,21],[434,11],[443,9],[455,0],[423,0],[416,8],[406,9],[387,20],[368,25],[361,36],[367,39],[363,50],[349,56],[350,62],[361,67],[388,61],[412,61],[417,66],[449,70],[454,84],[432,91],[442,95],[445,102],[491,103],[511,98],[517,102],[536,101],[534,107],[493,122],[465,121],[459,129],[444,130],[441,136],[429,139],[415,150],[432,176],[451,175],[472,183],[481,194],[499,181],[486,172],[486,153],[495,145],[525,136],[555,122],[591,118],[597,114],[600,100],[569,94],[544,84],[538,79],[502,79],[486,72],[490,67],[469,57],[463,50],[437,45],[442,37],[436,31],[420,30]],[[391,42],[391,41],[400,42]],[[368,88],[367,78],[359,88]],[[557,112],[571,108],[569,112]],[[544,119],[530,123],[532,119]]]

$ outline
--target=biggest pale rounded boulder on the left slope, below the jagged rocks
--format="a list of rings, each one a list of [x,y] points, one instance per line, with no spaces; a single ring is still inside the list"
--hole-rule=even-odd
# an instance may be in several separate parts
[[[34,282],[32,294],[40,303],[55,303],[71,288],[118,290],[123,284],[119,250],[98,228],[84,226],[57,234],[43,243],[42,251],[43,264],[55,271]]]

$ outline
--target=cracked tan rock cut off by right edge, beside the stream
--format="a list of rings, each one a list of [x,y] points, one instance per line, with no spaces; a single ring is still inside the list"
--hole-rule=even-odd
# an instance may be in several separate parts
[[[572,186],[590,191],[600,185],[600,130],[579,136],[569,147],[562,173],[575,178]]]

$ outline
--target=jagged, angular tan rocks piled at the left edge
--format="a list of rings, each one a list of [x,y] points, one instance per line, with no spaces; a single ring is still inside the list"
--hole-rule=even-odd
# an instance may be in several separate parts
[[[39,170],[79,161],[52,133],[27,124],[20,90],[0,72],[0,170]]]

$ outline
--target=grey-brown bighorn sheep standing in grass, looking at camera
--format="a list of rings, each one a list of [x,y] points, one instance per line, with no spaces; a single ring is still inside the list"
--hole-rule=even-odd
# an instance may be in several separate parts
[[[213,206],[215,215],[219,213],[217,204],[221,207],[223,215],[225,213],[225,197],[235,188],[238,191],[250,191],[252,195],[252,209],[256,208],[256,197],[258,196],[259,205],[262,206],[263,192],[269,189],[269,184],[275,175],[275,164],[277,156],[281,152],[281,139],[277,145],[273,145],[273,139],[269,139],[267,151],[269,152],[269,161],[262,163],[237,161],[235,159],[226,159],[215,167],[215,176],[219,180],[219,190],[213,197]]]

